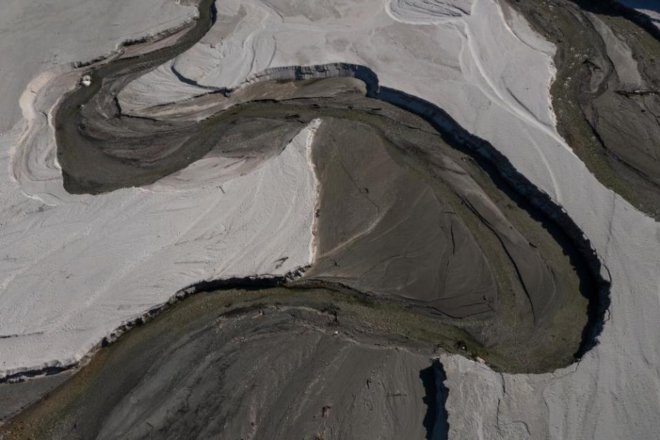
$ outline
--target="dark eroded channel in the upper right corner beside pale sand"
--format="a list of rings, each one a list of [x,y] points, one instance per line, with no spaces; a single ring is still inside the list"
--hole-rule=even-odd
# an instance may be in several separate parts
[[[604,185],[660,220],[660,31],[614,0],[508,3],[557,45],[560,134]]]

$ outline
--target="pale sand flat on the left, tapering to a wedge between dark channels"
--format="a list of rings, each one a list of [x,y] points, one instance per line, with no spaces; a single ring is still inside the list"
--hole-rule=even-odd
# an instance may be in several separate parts
[[[182,23],[196,10],[162,12],[173,16],[163,22]],[[101,23],[113,29],[112,22]],[[70,34],[67,39],[68,50],[83,60],[116,45],[98,41],[87,55]],[[67,48],[65,39],[53,44]],[[5,60],[5,66],[11,64]],[[23,121],[0,136],[0,160],[10,165],[0,174],[0,377],[77,362],[114,328],[190,284],[282,275],[312,258],[317,183],[310,129],[246,176],[233,169],[219,176],[201,160],[146,189],[73,196],[63,191],[45,117],[63,91],[76,86],[79,74],[70,70],[63,65],[36,76],[21,96]]]

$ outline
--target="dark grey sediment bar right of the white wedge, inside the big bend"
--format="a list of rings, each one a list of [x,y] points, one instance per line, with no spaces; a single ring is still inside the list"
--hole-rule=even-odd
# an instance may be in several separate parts
[[[324,90],[324,81],[331,87]],[[418,116],[365,98],[364,89],[350,87],[354,81],[337,87],[337,78],[299,80],[292,98],[239,103],[213,116],[236,136],[253,136],[255,151],[268,151],[259,160],[286,144],[259,141],[255,127],[293,134],[314,118],[323,121],[312,147],[321,180],[318,255],[297,285],[404,301],[438,325],[467,332],[494,368],[541,372],[571,364],[597,284],[571,236],[548,218],[560,207],[549,198],[539,199],[546,211],[525,202],[521,189],[533,187],[522,176],[516,187],[504,182],[498,173],[515,170],[476,154],[487,148],[482,141],[455,127],[438,134]],[[279,85],[269,83],[275,91]],[[326,97],[305,97],[310,89]],[[426,108],[409,102],[418,112]],[[232,145],[220,137],[212,154],[234,154]]]

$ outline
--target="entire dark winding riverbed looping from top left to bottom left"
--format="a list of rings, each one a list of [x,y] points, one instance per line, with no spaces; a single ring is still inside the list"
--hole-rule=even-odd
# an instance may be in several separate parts
[[[380,90],[366,67],[271,70],[123,112],[118,92],[200,39],[211,3],[173,45],[138,42],[130,56],[81,67],[89,87],[54,118],[65,188],[151,185],[202,158],[232,163],[217,171],[230,179],[314,127],[315,261],[300,276],[233,280],[173,306],[99,350],[0,437],[442,438],[443,375],[429,370],[440,350],[543,373],[595,344],[608,285],[582,232],[493,147],[423,99]]]

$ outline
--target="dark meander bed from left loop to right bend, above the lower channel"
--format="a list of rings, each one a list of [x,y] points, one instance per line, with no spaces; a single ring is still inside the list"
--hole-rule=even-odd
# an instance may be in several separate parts
[[[573,362],[598,294],[584,255],[546,221],[560,207],[548,198],[546,211],[535,211],[521,197],[534,189],[522,176],[514,187],[498,182],[499,174],[517,173],[506,160],[484,161],[497,151],[437,107],[379,88],[366,67],[341,63],[268,70],[246,87],[200,96],[205,105],[197,108],[213,110],[199,123],[183,120],[176,104],[158,108],[158,118],[112,114],[103,96],[118,86],[104,81],[79,112],[58,112],[58,147],[78,164],[63,161],[67,185],[92,192],[143,185],[206,155],[254,167],[321,118],[319,258],[306,280],[407,300],[466,331],[496,368]],[[195,107],[195,99],[182,105]],[[104,159],[83,160],[92,150]],[[531,351],[515,356],[522,350]]]

